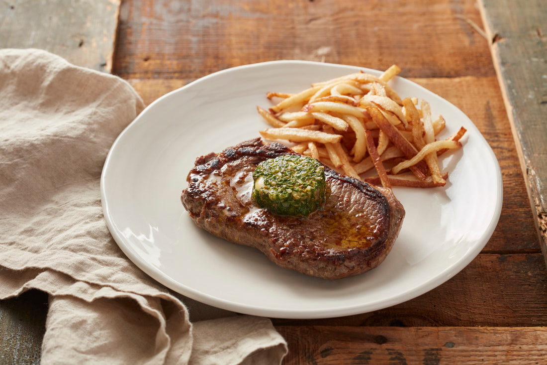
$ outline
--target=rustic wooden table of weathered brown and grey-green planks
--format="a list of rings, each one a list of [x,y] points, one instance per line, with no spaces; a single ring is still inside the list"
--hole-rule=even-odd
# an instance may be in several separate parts
[[[117,28],[103,21],[78,33],[84,34],[80,38],[67,36],[64,48],[59,39],[33,46],[72,54],[76,60],[80,56],[86,66],[127,79],[147,104],[208,73],[253,62],[301,59],[373,69],[398,64],[401,76],[467,114],[496,154],[503,209],[490,241],[472,263],[443,285],[387,309],[323,320],[273,319],[289,344],[285,363],[547,361],[542,254],[547,206],[547,127],[542,118],[547,23],[542,10],[547,3],[104,3],[111,7],[96,11],[115,19],[119,10]],[[17,11],[18,5],[5,11]],[[85,38],[99,33],[104,38],[95,46]],[[13,39],[3,46],[18,47]],[[87,58],[77,52],[84,47],[90,47]],[[31,292],[0,303],[0,359],[39,358],[46,301],[43,293]]]

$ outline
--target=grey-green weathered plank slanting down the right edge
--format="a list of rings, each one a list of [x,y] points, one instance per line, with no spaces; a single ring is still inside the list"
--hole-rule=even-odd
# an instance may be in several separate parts
[[[547,4],[480,4],[547,264]]]

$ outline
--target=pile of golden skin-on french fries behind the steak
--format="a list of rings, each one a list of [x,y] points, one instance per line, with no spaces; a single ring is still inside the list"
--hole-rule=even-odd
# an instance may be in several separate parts
[[[311,84],[296,94],[271,92],[279,100],[269,110],[257,106],[271,125],[261,130],[266,140],[291,142],[291,148],[346,175],[370,184],[444,186],[439,156],[462,147],[465,128],[437,140],[445,128],[442,116],[433,120],[427,101],[401,99],[388,84],[400,68],[380,77],[357,72]],[[376,171],[370,175],[369,171]]]

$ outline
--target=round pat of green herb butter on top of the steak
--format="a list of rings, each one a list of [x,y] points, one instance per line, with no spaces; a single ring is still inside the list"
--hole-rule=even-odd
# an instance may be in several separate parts
[[[306,216],[325,203],[325,169],[315,158],[284,155],[260,162],[253,199],[280,215]]]

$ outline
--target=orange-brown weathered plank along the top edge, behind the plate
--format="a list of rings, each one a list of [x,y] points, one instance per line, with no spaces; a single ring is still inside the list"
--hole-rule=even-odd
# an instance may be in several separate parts
[[[300,59],[405,76],[493,76],[475,0],[145,2],[120,8],[114,73],[196,79],[241,64]]]

